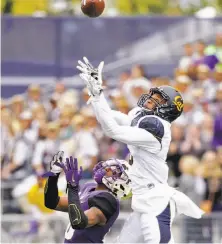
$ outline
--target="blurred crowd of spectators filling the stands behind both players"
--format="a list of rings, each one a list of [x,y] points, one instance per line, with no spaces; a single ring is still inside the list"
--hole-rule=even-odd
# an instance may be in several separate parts
[[[151,87],[171,85],[182,93],[184,113],[172,124],[167,158],[169,183],[205,211],[222,211],[222,33],[210,45],[204,40],[186,43],[183,52],[174,77],[148,79],[138,64],[117,77],[115,89],[104,92],[112,109],[123,113]],[[39,179],[58,150],[79,159],[85,179],[92,178],[100,160],[128,159],[126,145],[103,134],[86,105],[88,98],[86,89],[58,82],[50,94],[32,84],[26,94],[2,100],[2,182],[21,182],[30,175]]]

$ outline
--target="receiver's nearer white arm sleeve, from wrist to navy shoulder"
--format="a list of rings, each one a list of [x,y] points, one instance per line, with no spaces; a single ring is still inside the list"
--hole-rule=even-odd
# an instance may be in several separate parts
[[[161,144],[157,138],[146,129],[118,125],[110,112],[103,107],[100,97],[98,100],[92,101],[92,105],[97,120],[107,136],[128,145],[145,147],[152,153],[156,153],[161,149]]]

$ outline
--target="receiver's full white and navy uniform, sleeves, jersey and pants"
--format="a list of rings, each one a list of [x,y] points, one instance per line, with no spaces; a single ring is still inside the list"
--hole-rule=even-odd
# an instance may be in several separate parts
[[[133,156],[129,172],[132,209],[139,218],[144,242],[169,242],[170,199],[175,194],[167,184],[166,157],[171,141],[171,124],[141,108],[133,109],[128,115],[113,111],[103,94],[93,99],[92,105],[104,133],[127,144]],[[134,225],[133,221],[130,225]],[[127,234],[122,242],[129,242]]]

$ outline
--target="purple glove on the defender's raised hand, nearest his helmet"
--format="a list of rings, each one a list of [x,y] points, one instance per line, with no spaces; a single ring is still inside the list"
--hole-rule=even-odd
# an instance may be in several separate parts
[[[66,175],[66,181],[68,184],[70,184],[73,187],[76,187],[79,185],[79,181],[82,178],[82,167],[78,168],[78,161],[77,158],[74,158],[71,156],[69,158],[66,158],[66,163],[60,163],[58,164],[60,166]]]

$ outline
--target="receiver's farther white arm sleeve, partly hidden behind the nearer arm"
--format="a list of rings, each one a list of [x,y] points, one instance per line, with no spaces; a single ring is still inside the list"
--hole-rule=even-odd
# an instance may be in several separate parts
[[[111,110],[103,93],[100,95],[100,103],[106,111],[110,112],[111,116],[119,125],[130,125],[130,118],[128,117],[128,115],[119,111]]]

